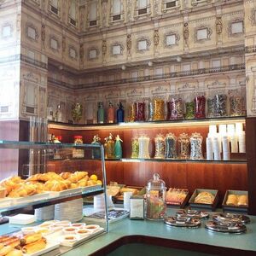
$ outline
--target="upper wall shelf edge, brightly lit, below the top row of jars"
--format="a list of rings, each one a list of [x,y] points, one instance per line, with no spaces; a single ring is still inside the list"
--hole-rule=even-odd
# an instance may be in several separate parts
[[[150,122],[127,122],[113,124],[68,124],[62,122],[49,121],[49,128],[64,130],[99,130],[99,129],[131,129],[131,128],[154,128],[154,127],[174,127],[174,126],[199,126],[199,125],[221,125],[244,123],[245,116],[240,117],[223,117],[223,118],[207,118],[207,119],[182,119],[172,121],[150,121]]]

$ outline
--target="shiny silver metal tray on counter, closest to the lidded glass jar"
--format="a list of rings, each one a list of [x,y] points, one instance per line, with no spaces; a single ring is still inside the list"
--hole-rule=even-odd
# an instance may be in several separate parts
[[[172,227],[182,228],[198,228],[201,225],[199,218],[186,218],[186,217],[166,217],[165,224]]]

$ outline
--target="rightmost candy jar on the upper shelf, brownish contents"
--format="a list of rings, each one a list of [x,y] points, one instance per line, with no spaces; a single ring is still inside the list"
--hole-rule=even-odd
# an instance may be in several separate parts
[[[242,115],[242,102],[243,97],[239,90],[230,90],[230,116],[241,116]]]

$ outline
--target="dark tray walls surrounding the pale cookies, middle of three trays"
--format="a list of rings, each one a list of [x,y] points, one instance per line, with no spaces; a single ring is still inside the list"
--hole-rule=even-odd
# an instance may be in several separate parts
[[[201,192],[208,192],[214,195],[212,204],[195,203],[195,197]],[[218,205],[218,190],[215,190],[215,189],[195,189],[194,193],[191,195],[189,199],[189,207],[193,209],[206,209],[208,211],[214,212],[217,205]]]

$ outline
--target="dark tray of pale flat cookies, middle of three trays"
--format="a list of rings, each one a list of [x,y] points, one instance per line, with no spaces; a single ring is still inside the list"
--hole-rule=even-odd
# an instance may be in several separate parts
[[[214,211],[218,204],[218,190],[195,189],[189,199],[189,206],[195,209],[207,209]]]

